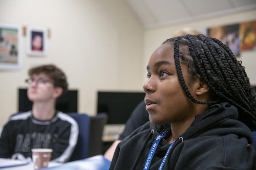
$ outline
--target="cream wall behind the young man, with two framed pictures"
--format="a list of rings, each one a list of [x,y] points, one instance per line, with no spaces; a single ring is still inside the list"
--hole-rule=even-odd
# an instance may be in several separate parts
[[[97,90],[142,91],[143,28],[123,0],[0,0],[0,23],[51,30],[46,57],[26,54],[21,69],[0,70],[0,125],[17,111],[27,70],[54,63],[79,89],[79,112],[95,114]]]

